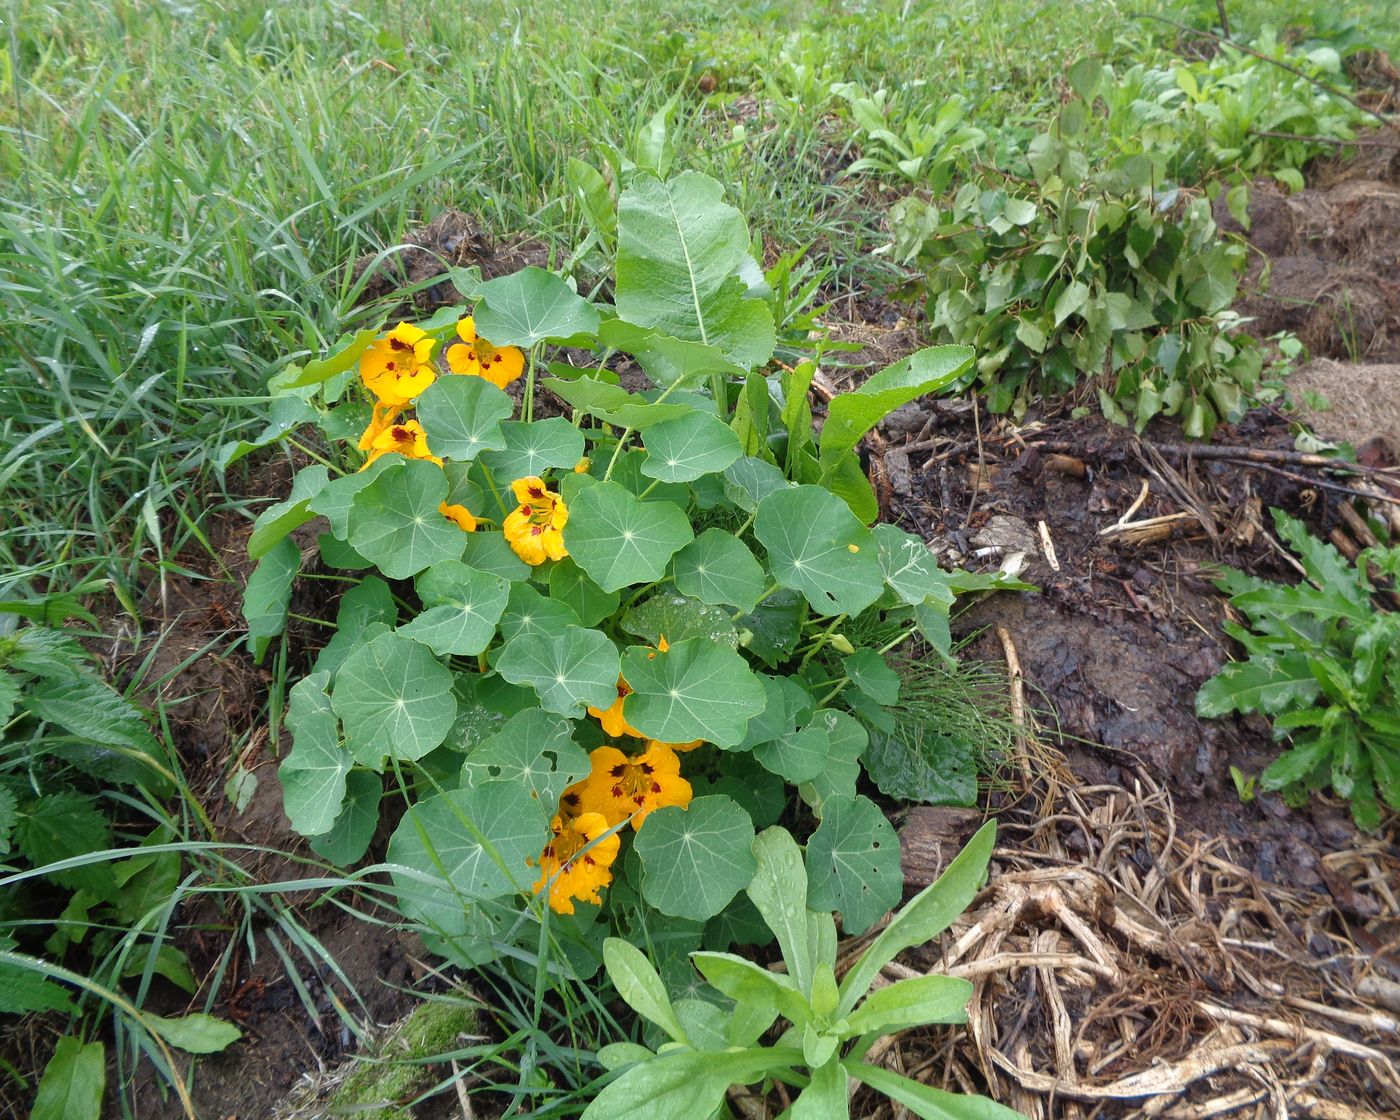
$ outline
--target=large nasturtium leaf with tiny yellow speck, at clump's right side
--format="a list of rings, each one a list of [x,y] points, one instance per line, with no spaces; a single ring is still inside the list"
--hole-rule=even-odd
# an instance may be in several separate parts
[[[801,591],[819,615],[858,615],[883,589],[875,539],[820,486],[769,494],[753,535],[769,552],[773,578]]]

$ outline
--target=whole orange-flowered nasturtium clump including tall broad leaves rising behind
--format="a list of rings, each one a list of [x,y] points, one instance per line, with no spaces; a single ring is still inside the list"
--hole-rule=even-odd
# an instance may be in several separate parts
[[[575,967],[613,928],[675,977],[701,944],[764,937],[742,892],[790,809],[813,907],[858,932],[900,897],[893,830],[858,792],[867,725],[899,699],[883,654],[916,633],[946,652],[953,594],[981,584],[868,528],[857,445],[972,351],[881,371],[818,438],[813,367],[767,370],[748,246],[714,181],[638,175],[613,305],[540,269],[458,274],[469,309],[276,378],[290,420],[266,438],[311,419],[335,454],[253,526],[255,652],[287,617],[294,528],[323,518],[319,561],[351,582],[290,693],[286,809],[351,864],[392,777],[399,903],[444,955],[533,948],[547,921]],[[622,388],[616,356],[650,388]]]

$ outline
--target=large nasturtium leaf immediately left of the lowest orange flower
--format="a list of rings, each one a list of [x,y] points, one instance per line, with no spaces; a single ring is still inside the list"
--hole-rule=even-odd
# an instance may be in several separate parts
[[[529,889],[549,813],[522,785],[490,781],[409,806],[389,839],[399,909],[442,937],[468,928],[472,902]]]

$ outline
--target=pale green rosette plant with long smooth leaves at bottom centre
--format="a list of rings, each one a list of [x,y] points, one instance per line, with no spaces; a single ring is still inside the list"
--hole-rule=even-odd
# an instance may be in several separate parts
[[[599,1057],[620,1071],[584,1110],[584,1120],[650,1120],[720,1114],[731,1085],[783,1082],[799,1091],[778,1120],[850,1116],[854,1082],[868,1085],[925,1120],[1019,1120],[981,1096],[960,1096],[872,1065],[864,1058],[882,1035],[932,1023],[967,1022],[972,984],[951,976],[918,976],[875,987],[896,953],[938,937],[981,886],[995,841],[988,822],[938,882],[920,892],[869,944],[840,983],[836,924],[802,904],[809,893],[802,853],[785,829],[753,841],[755,875],[746,893],[777,938],[785,973],[732,953],[696,952],[704,977],[732,1000],[672,1000],[647,958],[626,941],[603,946],[619,994],[669,1039],[652,1053],[637,1043],[605,1046]],[[778,1021],[770,1046],[760,1040]]]

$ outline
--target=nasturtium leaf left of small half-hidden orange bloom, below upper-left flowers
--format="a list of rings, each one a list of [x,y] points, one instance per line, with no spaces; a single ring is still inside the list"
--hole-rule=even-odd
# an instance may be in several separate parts
[[[407,580],[462,554],[465,533],[438,511],[447,498],[442,468],[410,459],[385,470],[350,504],[350,543],[391,580]]]

